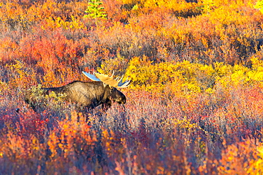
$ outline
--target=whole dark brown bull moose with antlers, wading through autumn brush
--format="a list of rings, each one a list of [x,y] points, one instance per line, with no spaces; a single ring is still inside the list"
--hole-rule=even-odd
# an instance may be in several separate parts
[[[89,74],[82,72],[92,81],[73,81],[70,84],[60,87],[43,88],[43,94],[50,93],[63,94],[65,101],[76,103],[77,108],[96,108],[102,105],[102,108],[109,108],[112,102],[119,104],[126,103],[126,96],[122,94],[117,88],[126,88],[129,86],[129,80],[122,81],[122,77],[113,78],[114,72],[111,77],[106,74],[94,73]],[[35,108],[30,93],[26,95],[26,102]]]

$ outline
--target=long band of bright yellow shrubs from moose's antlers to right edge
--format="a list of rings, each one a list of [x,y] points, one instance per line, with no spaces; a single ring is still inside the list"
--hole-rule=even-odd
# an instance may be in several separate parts
[[[124,58],[119,57],[117,60]],[[109,60],[112,62],[112,60]],[[100,72],[108,72],[104,65]],[[110,69],[118,67],[120,63],[111,63]],[[231,66],[222,62],[213,65],[183,62],[150,61],[147,57],[133,57],[127,66],[125,77],[132,80],[130,88],[146,91],[172,93],[174,95],[193,96],[202,92],[213,93],[214,86],[220,84],[225,90],[235,86],[252,86],[262,84],[263,62],[252,58],[252,69],[238,65]],[[262,84],[263,85],[263,84]]]

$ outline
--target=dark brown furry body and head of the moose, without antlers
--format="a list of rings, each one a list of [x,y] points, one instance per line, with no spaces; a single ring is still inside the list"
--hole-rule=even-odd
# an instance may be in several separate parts
[[[73,81],[65,86],[43,89],[44,94],[50,94],[52,91],[55,94],[64,94],[65,101],[76,103],[79,107],[95,108],[102,105],[109,108],[112,101],[126,103],[126,97],[121,91],[109,87],[109,85],[104,86],[100,81]],[[31,104],[33,108],[35,107],[30,98],[30,93],[26,95],[26,102]]]

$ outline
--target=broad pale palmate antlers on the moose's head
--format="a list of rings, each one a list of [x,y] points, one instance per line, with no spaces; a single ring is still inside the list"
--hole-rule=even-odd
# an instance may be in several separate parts
[[[92,81],[102,81],[104,84],[108,84],[109,86],[115,87],[115,88],[126,88],[129,86],[130,80],[122,81],[122,77],[117,77],[116,79],[113,78],[114,72],[112,73],[112,76],[109,77],[108,75],[105,74],[100,74],[100,73],[94,73],[94,74],[89,74],[87,72],[82,72],[87,76],[89,79]]]

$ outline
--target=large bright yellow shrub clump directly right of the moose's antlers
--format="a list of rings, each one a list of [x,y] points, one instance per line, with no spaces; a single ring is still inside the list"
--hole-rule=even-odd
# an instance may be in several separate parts
[[[144,57],[134,57],[126,75],[132,79],[131,88],[142,88],[159,92],[172,91],[173,94],[195,94],[211,88],[214,84],[212,66],[184,62],[161,62],[152,64]]]

